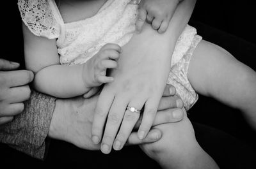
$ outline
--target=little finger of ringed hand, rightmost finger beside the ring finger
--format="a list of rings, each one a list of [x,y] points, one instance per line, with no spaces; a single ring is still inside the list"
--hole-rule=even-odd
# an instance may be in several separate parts
[[[143,119],[138,130],[138,137],[140,139],[143,139],[145,136],[147,136],[147,133],[150,130],[156,117],[158,104],[159,100],[157,99],[148,99],[148,101],[145,103]]]

